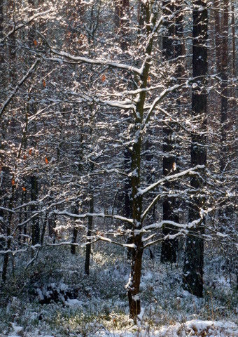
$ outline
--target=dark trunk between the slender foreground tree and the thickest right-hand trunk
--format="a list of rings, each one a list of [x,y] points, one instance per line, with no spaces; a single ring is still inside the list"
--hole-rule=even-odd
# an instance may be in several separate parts
[[[164,26],[166,28],[165,35],[162,38],[162,55],[165,61],[172,60],[182,55],[181,35],[182,33],[182,15],[180,13],[181,1],[177,1],[176,4],[171,0],[163,1],[163,14],[165,15]],[[172,13],[176,13],[175,19],[169,20],[169,16]],[[176,61],[178,62],[178,61]],[[176,67],[176,77],[181,77],[181,67]],[[171,94],[176,95],[176,94]],[[179,106],[179,100],[177,100],[177,107]],[[171,113],[174,110],[174,106],[168,104],[167,110]],[[163,126],[163,175],[169,176],[171,173],[177,172],[177,160],[176,160],[176,147],[177,142],[174,138],[176,131],[176,125],[171,121],[166,121]],[[169,193],[174,188],[173,182],[167,182],[165,184],[165,190]],[[178,208],[178,202],[174,197],[167,197],[163,201],[163,220],[172,220],[175,223],[179,223],[179,214],[176,213]],[[168,234],[176,234],[176,231],[172,225],[166,225],[162,228],[162,234],[166,237]],[[178,239],[165,239],[162,242],[161,257],[162,263],[175,263],[178,250]]]

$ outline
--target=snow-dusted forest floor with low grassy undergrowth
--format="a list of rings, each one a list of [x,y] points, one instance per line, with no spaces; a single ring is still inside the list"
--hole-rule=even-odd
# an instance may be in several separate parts
[[[238,337],[237,279],[225,257],[207,253],[204,298],[196,298],[181,286],[182,256],[176,265],[161,265],[159,254],[159,247],[153,260],[144,253],[137,325],[128,315],[125,250],[97,243],[89,276],[82,249],[75,256],[69,246],[42,249],[27,269],[18,256],[0,290],[0,336]]]

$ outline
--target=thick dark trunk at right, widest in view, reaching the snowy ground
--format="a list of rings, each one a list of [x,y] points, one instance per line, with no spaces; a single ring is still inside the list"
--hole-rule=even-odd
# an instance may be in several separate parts
[[[191,135],[191,165],[206,165],[207,150],[207,1],[193,1],[193,77],[196,79],[197,87],[192,93],[192,119],[197,132]],[[200,219],[200,211],[204,205],[202,187],[204,186],[204,172],[200,176],[194,176],[191,181],[191,189],[194,197],[189,206],[189,223]],[[195,296],[202,297],[203,291],[203,264],[204,264],[204,242],[202,234],[204,227],[202,219],[194,223],[186,238],[186,251],[183,266],[184,289]]]

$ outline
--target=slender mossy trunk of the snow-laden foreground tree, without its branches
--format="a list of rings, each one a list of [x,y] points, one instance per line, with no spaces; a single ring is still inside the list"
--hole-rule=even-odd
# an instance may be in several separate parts
[[[153,47],[153,38],[151,36],[152,27],[155,26],[156,15],[151,11],[151,3],[147,1],[146,4],[141,4],[144,10],[144,29],[146,29],[146,35],[148,41],[146,41],[146,51],[143,71],[140,75],[140,89],[147,88],[148,86],[148,73],[151,65],[151,51]],[[144,244],[142,241],[141,229],[142,229],[142,195],[139,192],[141,185],[141,144],[142,144],[142,132],[141,126],[143,126],[144,117],[144,105],[146,100],[146,91],[141,90],[137,99],[136,112],[134,114],[134,132],[132,143],[132,172],[131,172],[131,184],[132,184],[132,262],[130,280],[127,284],[127,295],[130,307],[130,317],[137,322],[137,317],[141,312],[141,300],[139,298],[139,286],[141,282],[141,263],[144,251]]]

